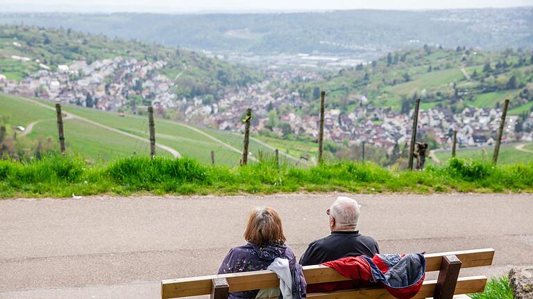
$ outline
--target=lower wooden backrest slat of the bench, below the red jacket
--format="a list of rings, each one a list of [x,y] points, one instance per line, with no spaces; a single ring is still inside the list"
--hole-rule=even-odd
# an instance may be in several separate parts
[[[455,295],[466,293],[479,293],[484,291],[487,284],[485,276],[471,276],[457,279]],[[413,299],[433,297],[437,280],[426,280],[422,289]],[[312,299],[394,299],[387,289],[367,288],[357,290],[332,291],[330,293],[308,293],[307,298]]]

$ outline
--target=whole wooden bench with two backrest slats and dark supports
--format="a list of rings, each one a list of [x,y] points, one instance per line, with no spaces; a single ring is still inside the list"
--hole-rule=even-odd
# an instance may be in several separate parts
[[[490,266],[494,249],[430,253],[424,255],[426,271],[439,271],[437,280],[425,280],[414,298],[450,299],[454,295],[484,291],[487,277],[484,275],[459,278],[459,270],[477,266]],[[348,280],[327,266],[304,266],[303,275],[307,284]],[[278,276],[271,271],[253,271],[195,278],[179,278],[161,282],[161,298],[183,298],[210,295],[212,299],[228,298],[229,292],[279,287]],[[307,298],[316,299],[366,299],[394,298],[382,287],[347,289],[328,293],[307,293]]]

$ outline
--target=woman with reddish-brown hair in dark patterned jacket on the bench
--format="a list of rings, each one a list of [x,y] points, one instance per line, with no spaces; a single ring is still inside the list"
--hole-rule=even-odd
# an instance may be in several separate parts
[[[266,270],[271,264],[285,263],[285,265],[288,264],[289,280],[291,281],[289,287],[291,296],[286,297],[305,297],[306,284],[302,267],[296,261],[291,248],[285,245],[286,239],[283,234],[281,219],[275,210],[267,207],[254,208],[248,216],[244,239],[248,243],[230,250],[220,266],[219,274]],[[280,275],[278,274],[278,276]],[[265,293],[264,291],[261,290],[261,293]],[[260,290],[235,292],[230,293],[230,298],[256,298],[258,293]],[[260,294],[258,297],[264,296]]]

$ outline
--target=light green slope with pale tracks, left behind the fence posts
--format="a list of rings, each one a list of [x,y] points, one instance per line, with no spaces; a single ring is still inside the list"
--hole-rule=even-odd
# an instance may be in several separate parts
[[[53,107],[53,102],[39,100],[44,105]],[[122,132],[127,132],[148,139],[147,116],[127,115],[120,117],[118,114],[87,109],[71,105],[63,105],[63,111],[76,116],[87,118],[102,125],[106,125]],[[49,136],[53,139],[53,148],[57,148],[57,125],[54,111],[35,105],[14,96],[0,94],[0,116],[8,125],[8,136],[15,132],[15,127],[28,127],[30,123],[38,122],[32,131],[24,137],[30,141],[37,141]],[[242,156],[244,136],[230,132],[221,132],[214,129],[192,127],[204,132],[208,136],[191,129],[192,126],[176,123],[171,120],[155,118],[156,141],[176,149],[183,156],[195,158],[203,164],[211,163],[211,151],[215,154],[215,163],[222,165],[238,165]],[[21,134],[18,132],[17,134]],[[210,138],[212,137],[212,138]],[[217,138],[217,140],[213,140]],[[87,124],[78,119],[65,120],[65,139],[70,153],[81,154],[92,161],[110,161],[113,158],[137,154],[149,155],[148,143],[137,141],[134,138],[110,132],[108,130]],[[227,145],[234,147],[231,149]],[[271,154],[271,149],[251,141],[249,150],[253,158],[262,154]],[[158,155],[169,156],[169,152],[157,148]]]

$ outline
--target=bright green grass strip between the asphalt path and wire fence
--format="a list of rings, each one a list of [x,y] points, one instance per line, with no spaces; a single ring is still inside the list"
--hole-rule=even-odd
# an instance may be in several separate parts
[[[130,156],[90,165],[82,157],[0,161],[0,197],[90,194],[238,194],[275,192],[532,192],[533,163],[494,166],[450,159],[420,172],[373,163],[332,162],[298,168],[271,158],[244,167],[205,166],[191,158]]]

